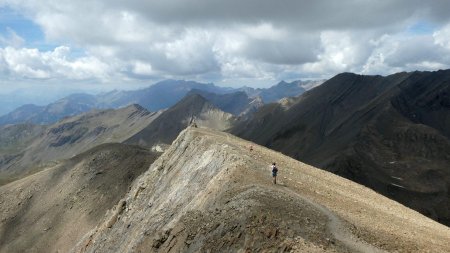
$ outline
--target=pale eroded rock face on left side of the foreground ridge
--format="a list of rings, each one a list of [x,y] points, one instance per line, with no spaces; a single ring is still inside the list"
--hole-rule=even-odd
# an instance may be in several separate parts
[[[232,147],[193,135],[178,138],[164,158],[138,179],[111,219],[94,234],[91,242],[96,243],[88,246],[88,252],[125,252],[141,244],[161,248],[167,241],[165,234],[171,235],[165,231],[172,230],[186,213],[207,204],[208,192],[216,191],[218,180],[236,169],[240,159],[229,151]]]

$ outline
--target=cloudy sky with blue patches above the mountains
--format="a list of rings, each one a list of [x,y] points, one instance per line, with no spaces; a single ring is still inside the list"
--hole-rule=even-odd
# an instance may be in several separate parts
[[[450,68],[448,0],[0,0],[0,92]]]

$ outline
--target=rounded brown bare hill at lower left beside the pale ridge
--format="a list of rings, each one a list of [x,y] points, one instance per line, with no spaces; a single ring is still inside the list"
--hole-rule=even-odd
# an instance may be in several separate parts
[[[156,157],[104,144],[0,187],[0,252],[67,252]]]

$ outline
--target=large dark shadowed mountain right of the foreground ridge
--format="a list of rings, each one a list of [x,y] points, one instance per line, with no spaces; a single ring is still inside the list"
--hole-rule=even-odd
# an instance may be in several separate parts
[[[337,75],[232,132],[450,224],[450,70]]]

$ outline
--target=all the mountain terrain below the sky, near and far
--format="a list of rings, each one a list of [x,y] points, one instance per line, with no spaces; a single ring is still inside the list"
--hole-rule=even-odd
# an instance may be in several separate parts
[[[192,83],[154,111],[116,91],[9,115],[0,252],[450,250],[450,70]]]

